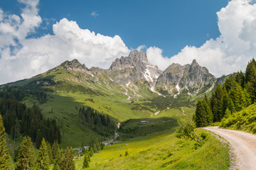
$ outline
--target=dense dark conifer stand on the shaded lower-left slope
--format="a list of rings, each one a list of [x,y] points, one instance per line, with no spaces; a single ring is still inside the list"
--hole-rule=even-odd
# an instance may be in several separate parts
[[[0,98],[0,114],[3,116],[6,133],[13,140],[28,135],[36,147],[40,147],[43,138],[53,144],[61,142],[60,128],[53,119],[44,119],[38,106],[27,107],[13,98]]]

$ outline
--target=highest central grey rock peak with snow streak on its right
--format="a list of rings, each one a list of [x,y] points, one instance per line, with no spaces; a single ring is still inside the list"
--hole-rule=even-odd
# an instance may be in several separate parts
[[[145,79],[154,84],[162,73],[158,67],[150,64],[144,51],[133,50],[128,57],[121,57],[112,62],[107,70],[111,79],[119,84]]]

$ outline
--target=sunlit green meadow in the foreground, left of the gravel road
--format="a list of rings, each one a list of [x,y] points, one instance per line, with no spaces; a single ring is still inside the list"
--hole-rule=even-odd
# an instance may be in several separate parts
[[[94,154],[90,169],[228,169],[228,147],[206,130],[198,130],[198,134],[208,134],[206,142],[198,149],[194,141],[177,139],[174,131],[106,146]],[[129,155],[124,157],[126,151]],[[82,169],[82,160],[83,157],[75,159],[76,169]]]

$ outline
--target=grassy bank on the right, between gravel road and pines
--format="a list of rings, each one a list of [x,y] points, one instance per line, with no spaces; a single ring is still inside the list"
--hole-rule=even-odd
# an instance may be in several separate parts
[[[243,108],[242,111],[224,118],[220,127],[256,133],[256,105],[252,104]]]

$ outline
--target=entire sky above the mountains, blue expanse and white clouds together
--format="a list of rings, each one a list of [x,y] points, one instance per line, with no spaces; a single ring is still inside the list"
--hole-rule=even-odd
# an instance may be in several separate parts
[[[134,49],[164,70],[196,59],[215,77],[256,53],[254,0],[4,0],[0,84],[78,59],[107,69]]]

